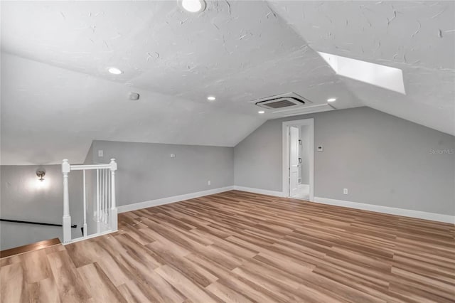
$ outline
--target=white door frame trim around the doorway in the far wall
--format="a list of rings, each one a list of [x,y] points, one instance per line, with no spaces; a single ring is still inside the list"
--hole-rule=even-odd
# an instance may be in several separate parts
[[[310,194],[309,201],[314,201],[314,119],[301,119],[283,122],[283,196],[289,198],[289,127],[309,126],[310,127],[310,146],[309,146],[309,179]]]

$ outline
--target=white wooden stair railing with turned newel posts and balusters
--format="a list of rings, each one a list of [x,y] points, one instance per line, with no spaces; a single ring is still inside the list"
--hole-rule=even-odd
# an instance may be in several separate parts
[[[96,236],[101,233],[117,230],[117,206],[115,203],[115,171],[117,163],[111,159],[109,164],[93,165],[70,165],[67,159],[63,160],[63,243],[70,243],[74,240],[81,240],[88,236],[87,225],[87,190],[85,171],[96,170],[96,203],[92,203],[94,209],[94,221],[96,222],[96,233],[90,235]],[[82,238],[72,239],[71,236],[71,216],[70,216],[70,198],[68,193],[68,174],[70,171],[82,171],[82,210],[83,210],[83,232]]]

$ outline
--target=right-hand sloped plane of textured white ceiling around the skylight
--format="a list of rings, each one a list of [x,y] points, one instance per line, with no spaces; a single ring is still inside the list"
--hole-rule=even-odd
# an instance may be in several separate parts
[[[400,68],[407,95],[342,78],[364,105],[455,135],[455,1],[272,1],[314,50]]]

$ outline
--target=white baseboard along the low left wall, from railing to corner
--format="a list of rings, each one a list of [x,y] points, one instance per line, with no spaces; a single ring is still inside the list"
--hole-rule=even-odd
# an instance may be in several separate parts
[[[136,210],[142,209],[142,208],[159,206],[159,205],[164,205],[164,204],[169,204],[169,203],[175,203],[178,201],[184,201],[184,200],[188,200],[188,199],[213,195],[215,193],[223,193],[224,191],[232,191],[232,189],[234,189],[234,186],[214,188],[214,189],[209,189],[208,191],[198,191],[196,193],[186,193],[186,194],[180,195],[180,196],[172,196],[172,197],[160,198],[160,199],[156,199],[156,200],[144,201],[144,202],[139,202],[139,203],[132,203],[132,204],[124,205],[124,206],[119,206],[117,209],[118,209],[119,213],[125,213],[127,211],[136,211]]]

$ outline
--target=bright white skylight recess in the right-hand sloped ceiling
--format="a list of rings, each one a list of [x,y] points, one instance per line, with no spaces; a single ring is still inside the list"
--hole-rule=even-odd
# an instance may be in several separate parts
[[[389,66],[341,57],[330,53],[319,52],[319,55],[326,60],[337,75],[406,95],[403,73],[399,68],[390,68]]]

